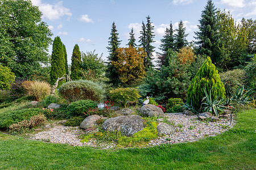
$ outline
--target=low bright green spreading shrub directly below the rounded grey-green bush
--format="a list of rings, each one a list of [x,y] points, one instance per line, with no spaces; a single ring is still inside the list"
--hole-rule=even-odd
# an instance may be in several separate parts
[[[96,101],[92,101],[92,100],[75,101],[69,104],[68,106],[68,109],[69,109],[68,117],[89,116],[89,114],[87,115],[86,111],[88,111],[88,109],[93,109],[97,107],[98,105]]]

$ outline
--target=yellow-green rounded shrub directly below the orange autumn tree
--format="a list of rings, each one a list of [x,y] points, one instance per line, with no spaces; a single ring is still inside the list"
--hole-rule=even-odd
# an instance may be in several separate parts
[[[139,91],[137,88],[116,88],[115,90],[111,90],[109,92],[110,100],[115,101],[116,103],[125,106],[127,101],[137,102],[139,97]]]

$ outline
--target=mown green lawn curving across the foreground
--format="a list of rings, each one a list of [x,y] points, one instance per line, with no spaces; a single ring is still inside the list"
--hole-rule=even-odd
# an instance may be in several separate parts
[[[0,169],[256,169],[256,109],[217,137],[151,148],[97,150],[0,133]]]

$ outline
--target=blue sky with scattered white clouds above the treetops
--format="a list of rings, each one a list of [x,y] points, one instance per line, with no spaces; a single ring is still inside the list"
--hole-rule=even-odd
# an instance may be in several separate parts
[[[79,44],[80,51],[103,53],[102,59],[108,56],[108,38],[112,23],[115,22],[122,40],[121,47],[126,47],[129,32],[134,28],[138,43],[142,20],[146,23],[146,16],[150,16],[155,29],[155,51],[160,52],[160,39],[170,22],[177,28],[182,20],[188,33],[188,41],[192,41],[197,31],[201,11],[207,1],[202,0],[32,0],[33,5],[39,6],[43,12],[43,21],[53,32],[52,39],[60,36],[67,48],[68,63],[71,64],[73,46]],[[236,21],[256,16],[256,1],[254,0],[213,0],[215,7],[230,11]],[[51,54],[52,46],[49,48]]]

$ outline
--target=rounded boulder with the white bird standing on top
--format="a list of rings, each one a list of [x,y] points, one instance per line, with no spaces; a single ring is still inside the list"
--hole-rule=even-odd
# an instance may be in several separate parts
[[[166,114],[164,114],[163,110],[159,107],[156,107],[155,105],[152,104],[146,104],[143,105],[139,109],[139,113],[141,113],[143,116],[147,117],[164,117]]]

